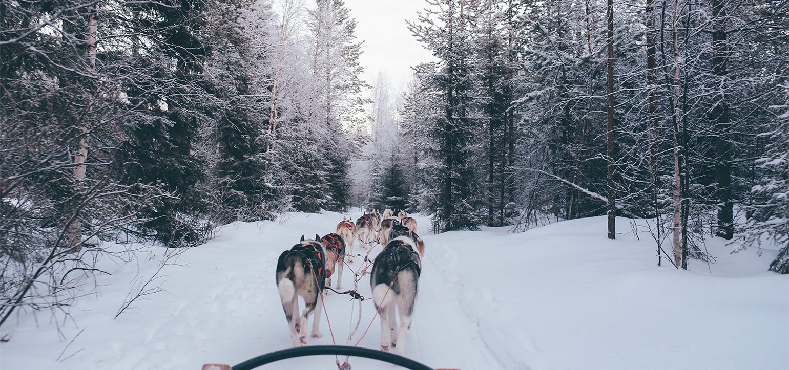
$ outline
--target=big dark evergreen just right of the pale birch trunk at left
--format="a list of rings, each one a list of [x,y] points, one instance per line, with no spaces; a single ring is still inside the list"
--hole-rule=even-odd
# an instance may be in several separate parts
[[[127,139],[120,145],[116,170],[125,184],[161,185],[174,195],[148,204],[145,213],[151,220],[144,230],[168,246],[195,245],[211,230],[208,214],[214,203],[206,159],[196,154],[200,129],[210,120],[210,104],[215,103],[203,86],[203,65],[210,55],[205,40],[213,31],[205,15],[215,4],[208,0],[126,6],[137,15],[135,44],[129,51],[140,54],[140,64],[150,63],[155,74],[127,88],[138,113],[125,124]],[[143,53],[143,46],[151,51]]]

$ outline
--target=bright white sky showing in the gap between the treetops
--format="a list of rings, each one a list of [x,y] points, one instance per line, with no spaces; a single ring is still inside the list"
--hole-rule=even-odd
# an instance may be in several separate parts
[[[417,21],[417,12],[428,6],[424,0],[346,0],[350,16],[357,21],[357,40],[364,40],[360,57],[362,78],[375,83],[378,72],[387,73],[391,86],[402,88],[411,77],[411,66],[434,60],[411,36],[406,20]]]

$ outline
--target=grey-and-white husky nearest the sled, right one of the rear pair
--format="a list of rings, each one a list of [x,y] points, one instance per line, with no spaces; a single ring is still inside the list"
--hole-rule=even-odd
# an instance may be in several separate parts
[[[372,301],[381,320],[381,350],[397,347],[398,355],[406,352],[406,331],[411,328],[413,306],[417,301],[417,281],[421,274],[419,255],[413,240],[395,237],[372,265],[370,286]],[[400,314],[400,325],[394,308]]]

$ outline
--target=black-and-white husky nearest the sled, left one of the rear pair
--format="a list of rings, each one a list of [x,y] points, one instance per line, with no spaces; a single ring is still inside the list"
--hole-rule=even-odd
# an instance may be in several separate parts
[[[307,320],[312,321],[312,338],[320,338],[320,308],[323,307],[323,288],[326,282],[326,245],[320,236],[305,241],[282,252],[277,261],[277,287],[282,299],[282,309],[290,327],[290,342],[295,346],[307,345]],[[305,309],[298,313],[298,297],[304,299]]]

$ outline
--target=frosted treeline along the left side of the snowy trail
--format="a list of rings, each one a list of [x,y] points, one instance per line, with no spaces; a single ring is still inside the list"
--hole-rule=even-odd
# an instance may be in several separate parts
[[[345,210],[355,24],[341,0],[0,1],[0,325],[82,295],[99,240]]]

